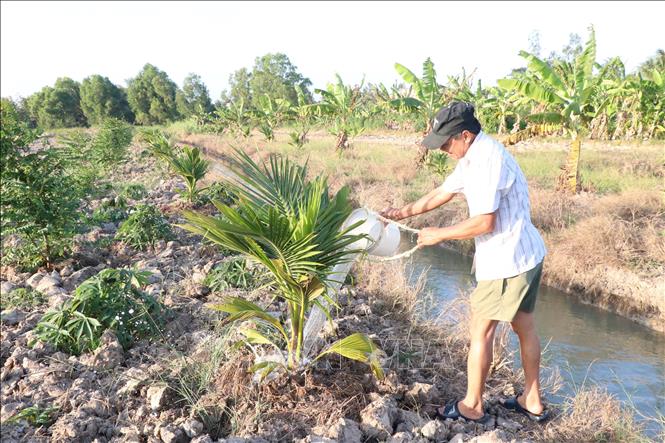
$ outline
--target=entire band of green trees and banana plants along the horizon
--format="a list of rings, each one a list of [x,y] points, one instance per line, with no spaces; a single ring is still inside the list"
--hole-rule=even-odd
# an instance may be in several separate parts
[[[298,137],[304,139],[309,125],[332,123],[335,127],[331,130],[341,147],[349,136],[368,125],[425,131],[436,109],[451,100],[474,103],[483,126],[490,132],[516,133],[529,126],[533,132],[534,128],[542,130],[546,123],[535,125],[535,114],[541,114],[542,119],[544,113],[558,112],[557,107],[564,106],[564,102],[570,114],[577,109],[576,104],[571,107],[569,103],[575,96],[587,101],[584,109],[574,114],[582,117],[591,138],[644,139],[665,135],[665,51],[656,51],[634,72],[627,72],[618,57],[597,62],[594,49],[593,58],[586,57],[586,70],[580,71],[593,77],[582,94],[583,91],[573,89],[579,77],[575,64],[584,55],[584,48],[579,36],[571,34],[569,44],[560,53],[541,58],[538,36],[532,36],[529,52],[521,51],[530,55],[525,57],[527,67],[514,69],[507,76],[511,81],[502,79],[489,87],[474,81],[473,72],[463,71],[442,81],[427,59],[422,75],[396,63],[402,81],[392,86],[364,82],[345,85],[337,76],[327,88],[312,91],[311,81],[285,54],[277,53],[257,57],[252,69],[234,72],[229,78],[229,89],[215,103],[200,76],[188,75],[179,87],[166,72],[151,64],[128,80],[127,87],[115,85],[101,75],[92,75],[81,83],[64,77],[27,98],[16,102],[3,98],[3,102],[14,107],[31,126],[42,129],[95,126],[108,117],[137,125],[194,118],[217,132],[231,130],[243,135],[255,127],[271,139],[275,125],[290,121],[301,126],[293,134],[297,142]],[[556,74],[559,83],[548,83],[554,78],[551,73]],[[531,83],[514,83],[519,79],[530,79]],[[542,86],[550,98],[564,97],[563,100],[541,100],[545,96],[533,95],[534,84]],[[316,103],[313,93],[320,96]],[[587,100],[591,97],[593,100]],[[325,117],[331,115],[334,118],[327,121]]]

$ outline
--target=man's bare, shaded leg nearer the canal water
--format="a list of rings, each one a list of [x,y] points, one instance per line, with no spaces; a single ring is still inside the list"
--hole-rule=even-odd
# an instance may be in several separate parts
[[[533,313],[517,311],[511,322],[520,340],[520,355],[524,369],[524,393],[517,399],[520,406],[533,414],[543,412],[540,398],[540,339]]]

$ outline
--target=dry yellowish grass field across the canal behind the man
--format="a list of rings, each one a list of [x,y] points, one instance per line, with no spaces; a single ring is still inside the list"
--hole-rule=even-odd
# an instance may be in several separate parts
[[[331,149],[332,137],[320,132],[299,151],[279,134],[273,142],[246,143],[172,130],[182,143],[199,146],[222,163],[231,146],[257,158],[279,153],[307,161],[312,176],[327,175],[333,187],[350,185],[357,204],[374,210],[414,201],[443,180],[415,167],[415,137],[399,132],[361,136],[340,157]],[[665,332],[662,143],[587,142],[580,166],[584,191],[577,195],[555,190],[566,149],[566,140],[557,138],[510,148],[529,182],[533,223],[549,251],[545,282]],[[418,228],[445,226],[466,216],[462,199],[449,206],[410,223]],[[473,242],[447,246],[470,254]]]

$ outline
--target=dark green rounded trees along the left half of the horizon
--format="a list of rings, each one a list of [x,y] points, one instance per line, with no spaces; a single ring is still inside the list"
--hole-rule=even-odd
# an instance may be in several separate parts
[[[199,75],[190,73],[179,87],[166,72],[148,63],[126,87],[97,74],[80,83],[61,77],[28,97],[2,101],[31,126],[52,129],[96,126],[106,118],[138,125],[165,124],[212,112],[239,99],[256,106],[265,93],[297,103],[296,86],[312,100],[311,81],[284,54],[257,57],[252,70],[239,69],[229,81],[230,90],[213,103]]]

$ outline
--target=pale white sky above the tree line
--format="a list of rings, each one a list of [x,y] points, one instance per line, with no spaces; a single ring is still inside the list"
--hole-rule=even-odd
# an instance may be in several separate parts
[[[634,69],[665,48],[665,2],[8,2],[0,3],[0,90],[25,97],[58,77],[101,74],[126,86],[146,63],[182,85],[199,74],[213,100],[229,75],[285,53],[313,86],[392,85],[399,62],[439,81],[465,68],[492,85],[538,31],[541,54],[596,30],[597,60]]]

